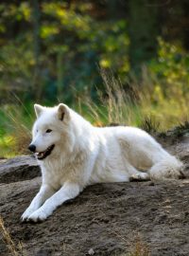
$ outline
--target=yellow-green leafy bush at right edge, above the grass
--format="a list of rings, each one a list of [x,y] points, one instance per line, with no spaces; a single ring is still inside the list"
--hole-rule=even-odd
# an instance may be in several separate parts
[[[189,92],[189,54],[180,46],[159,38],[158,59],[149,64],[149,70],[162,82],[167,97],[170,89],[180,90],[180,94]]]

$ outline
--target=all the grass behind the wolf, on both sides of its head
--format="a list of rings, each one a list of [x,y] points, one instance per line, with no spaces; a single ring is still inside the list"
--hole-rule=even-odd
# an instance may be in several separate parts
[[[140,83],[132,78],[124,86],[111,71],[100,70],[105,91],[97,89],[98,99],[93,101],[90,93],[76,99],[75,109],[96,126],[112,123],[138,126],[148,133],[161,132],[178,126],[175,134],[188,132],[188,95],[176,85],[163,88],[161,81],[144,68]],[[77,94],[77,93],[76,93]],[[76,102],[75,101],[75,102]],[[32,113],[32,114],[31,114]],[[1,155],[11,157],[27,154],[31,139],[34,111],[15,97],[12,104],[3,105],[0,111]]]

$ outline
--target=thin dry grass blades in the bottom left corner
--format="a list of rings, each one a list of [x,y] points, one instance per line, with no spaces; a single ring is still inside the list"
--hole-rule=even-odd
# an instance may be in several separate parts
[[[5,227],[3,218],[0,216],[0,232],[3,237],[3,242],[9,250],[11,256],[26,256],[26,250],[24,249],[21,242],[18,245],[12,240],[9,230]]]

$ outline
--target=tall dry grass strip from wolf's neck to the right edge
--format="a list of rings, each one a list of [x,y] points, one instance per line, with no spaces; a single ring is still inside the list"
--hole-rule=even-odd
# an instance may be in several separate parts
[[[145,66],[141,80],[132,77],[127,87],[111,71],[101,69],[100,73],[105,92],[98,90],[97,103],[89,94],[79,99],[81,114],[86,116],[87,108],[94,124],[119,123],[155,132],[166,131],[189,119],[189,95],[176,85],[163,87]],[[83,105],[86,107],[82,108]]]

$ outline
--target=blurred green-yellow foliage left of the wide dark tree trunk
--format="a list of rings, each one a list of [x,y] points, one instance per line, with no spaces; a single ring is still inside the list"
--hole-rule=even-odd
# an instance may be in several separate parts
[[[129,37],[124,19],[95,19],[89,14],[93,11],[89,3],[43,1],[40,38],[35,43],[33,6],[24,1],[17,5],[4,3],[0,9],[3,37],[8,33],[7,22],[9,26],[12,23],[11,27],[22,27],[13,40],[2,42],[0,92],[4,98],[13,88],[22,101],[36,96],[40,101],[73,101],[75,87],[79,94],[86,86],[94,94],[94,85],[102,86],[98,66],[112,68],[121,77],[129,72]],[[40,48],[37,85],[34,43]]]

